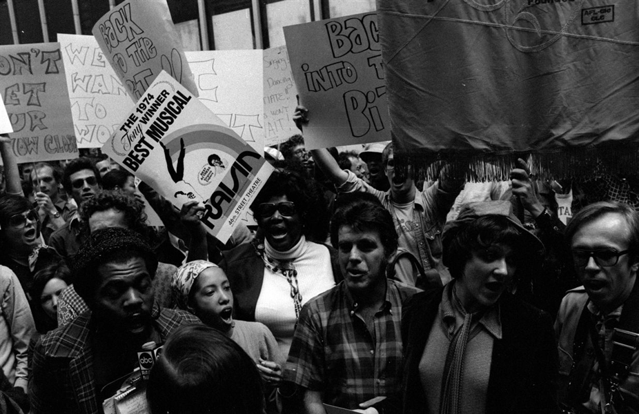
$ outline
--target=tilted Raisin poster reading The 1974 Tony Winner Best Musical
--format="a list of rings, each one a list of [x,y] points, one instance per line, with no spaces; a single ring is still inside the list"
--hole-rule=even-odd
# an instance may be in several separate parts
[[[273,168],[168,73],[161,72],[102,152],[226,242]]]

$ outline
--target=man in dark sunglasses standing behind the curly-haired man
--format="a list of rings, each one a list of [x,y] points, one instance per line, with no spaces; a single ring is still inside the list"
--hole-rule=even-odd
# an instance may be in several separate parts
[[[62,186],[80,208],[84,201],[92,198],[101,188],[100,173],[90,159],[74,159],[64,169]],[[49,245],[65,259],[71,259],[85,239],[86,235],[81,230],[76,212],[61,228],[55,230],[49,238]]]

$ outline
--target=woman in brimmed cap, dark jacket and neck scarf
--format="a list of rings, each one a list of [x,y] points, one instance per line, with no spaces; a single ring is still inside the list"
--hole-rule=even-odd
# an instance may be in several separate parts
[[[543,244],[509,201],[462,206],[443,242],[453,281],[404,307],[403,413],[555,413],[551,317],[509,293]]]

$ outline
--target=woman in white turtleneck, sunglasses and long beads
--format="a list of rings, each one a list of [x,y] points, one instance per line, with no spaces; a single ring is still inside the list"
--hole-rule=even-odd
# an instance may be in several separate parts
[[[235,316],[262,322],[282,355],[288,355],[297,316],[309,299],[342,279],[326,239],[328,214],[322,191],[301,170],[275,170],[251,205],[258,236],[223,253],[235,295]]]

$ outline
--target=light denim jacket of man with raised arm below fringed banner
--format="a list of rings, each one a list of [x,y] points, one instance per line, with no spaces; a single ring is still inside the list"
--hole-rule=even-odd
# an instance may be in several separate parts
[[[413,220],[400,221],[397,218],[397,208],[391,200],[391,191],[380,191],[357,178],[352,171],[348,173],[348,179],[337,187],[340,193],[354,193],[362,191],[375,195],[386,210],[391,212],[397,235],[399,235],[400,247],[406,248],[420,260],[424,270],[436,269],[442,279],[442,284],[450,281],[448,270],[441,264],[442,260],[442,232],[446,224],[446,215],[455,202],[459,192],[447,193],[440,188],[438,183],[429,186],[424,191],[415,190],[413,200]]]

